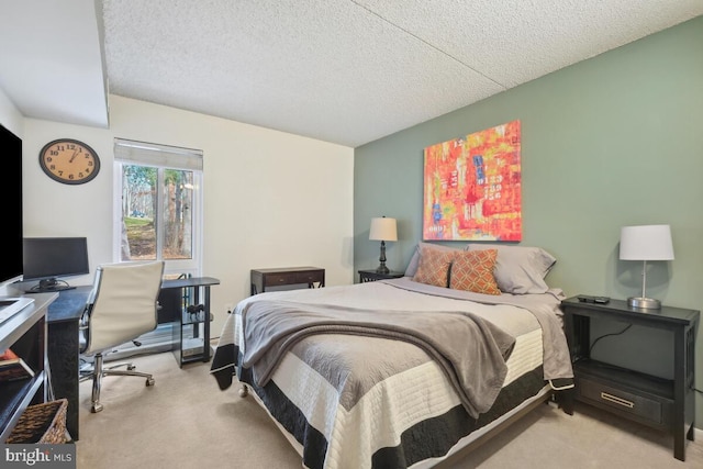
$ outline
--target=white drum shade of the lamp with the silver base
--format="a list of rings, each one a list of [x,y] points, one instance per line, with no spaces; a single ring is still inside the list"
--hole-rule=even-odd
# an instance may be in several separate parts
[[[672,260],[669,225],[623,226],[620,233],[622,260]]]

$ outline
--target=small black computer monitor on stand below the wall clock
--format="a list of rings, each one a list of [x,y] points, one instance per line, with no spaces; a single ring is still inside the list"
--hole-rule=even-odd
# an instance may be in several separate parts
[[[62,277],[90,273],[85,237],[25,237],[24,281],[38,280],[30,292],[72,288]]]

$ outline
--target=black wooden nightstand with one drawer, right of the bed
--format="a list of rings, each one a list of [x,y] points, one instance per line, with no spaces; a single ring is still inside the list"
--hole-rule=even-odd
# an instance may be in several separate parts
[[[583,303],[578,297],[561,302],[576,391],[579,401],[624,418],[673,434],[673,456],[685,460],[685,438],[693,440],[695,423],[695,334],[700,311],[661,306],[636,309],[623,300]],[[620,321],[673,334],[673,380],[591,359],[591,317]]]

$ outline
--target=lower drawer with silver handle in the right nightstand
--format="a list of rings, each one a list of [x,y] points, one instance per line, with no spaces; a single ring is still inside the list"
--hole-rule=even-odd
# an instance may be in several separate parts
[[[613,388],[588,378],[577,378],[576,387],[579,398],[584,401],[616,409],[654,424],[665,424],[666,412],[662,401]]]

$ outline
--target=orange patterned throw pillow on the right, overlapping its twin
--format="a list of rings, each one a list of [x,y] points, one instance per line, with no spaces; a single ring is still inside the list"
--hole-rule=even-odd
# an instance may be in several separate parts
[[[451,264],[449,288],[475,293],[501,294],[493,277],[496,258],[498,249],[457,253]]]

